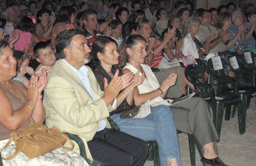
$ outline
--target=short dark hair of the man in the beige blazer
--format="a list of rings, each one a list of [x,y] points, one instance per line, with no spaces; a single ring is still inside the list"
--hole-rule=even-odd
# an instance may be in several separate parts
[[[75,35],[84,35],[83,29],[70,29],[60,32],[55,40],[56,58],[64,59],[64,49],[72,48],[72,39]]]

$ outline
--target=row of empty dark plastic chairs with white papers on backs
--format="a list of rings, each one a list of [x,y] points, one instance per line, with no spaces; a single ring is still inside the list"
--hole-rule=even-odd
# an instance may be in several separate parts
[[[239,132],[245,133],[246,110],[249,108],[251,98],[256,95],[254,61],[256,55],[252,52],[243,52],[243,55],[245,55],[243,59],[233,57],[228,61],[219,57],[221,63],[219,65],[228,67],[236,78],[225,76],[223,68],[214,70],[216,61],[213,58],[208,60],[207,65],[197,60],[198,65],[189,65],[185,70],[185,76],[193,84],[196,95],[204,98],[213,107],[214,125],[219,137],[225,108],[225,120],[229,120],[230,116],[234,117],[237,107]],[[248,61],[248,58],[251,60]],[[232,105],[234,106],[231,115]]]

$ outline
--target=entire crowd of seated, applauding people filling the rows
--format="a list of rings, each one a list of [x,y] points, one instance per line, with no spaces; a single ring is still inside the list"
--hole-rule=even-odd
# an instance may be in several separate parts
[[[170,105],[164,98],[193,89],[180,63],[185,56],[205,63],[214,52],[241,58],[237,43],[255,52],[254,4],[207,10],[189,0],[9,0],[0,1],[0,14],[0,149],[11,132],[36,122],[79,135],[87,158],[105,165],[143,165],[150,140],[158,143],[161,165],[182,165],[178,129],[195,137],[203,164],[226,165],[210,105],[196,97]],[[146,104],[147,116],[120,117]],[[1,155],[14,151],[12,142]],[[78,154],[75,145],[34,159],[19,152],[3,162],[88,165]]]

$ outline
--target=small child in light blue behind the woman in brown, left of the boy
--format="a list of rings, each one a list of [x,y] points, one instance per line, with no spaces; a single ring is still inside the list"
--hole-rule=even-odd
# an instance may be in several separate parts
[[[30,82],[30,80],[25,77],[25,74],[28,73],[30,76],[35,75],[33,68],[28,67],[28,64],[30,64],[30,59],[23,52],[17,50],[14,50],[13,55],[17,61],[17,75],[16,77],[13,77],[13,80],[19,81],[28,87],[28,82]]]

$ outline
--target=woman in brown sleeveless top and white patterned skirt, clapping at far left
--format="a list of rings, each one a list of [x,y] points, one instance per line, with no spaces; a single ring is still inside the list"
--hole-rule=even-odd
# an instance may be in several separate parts
[[[0,40],[0,150],[10,139],[10,134],[17,129],[24,128],[31,123],[43,123],[45,108],[42,102],[42,90],[46,85],[46,73],[42,77],[31,76],[28,88],[11,78],[16,76],[16,59],[7,41]],[[6,59],[8,59],[6,61]],[[8,67],[6,64],[8,63]],[[14,141],[1,152],[7,158],[15,152]],[[35,165],[87,165],[86,161],[77,153],[63,148],[52,150],[37,158],[30,159],[25,153],[19,152],[15,158],[2,160],[4,165],[27,166]]]

